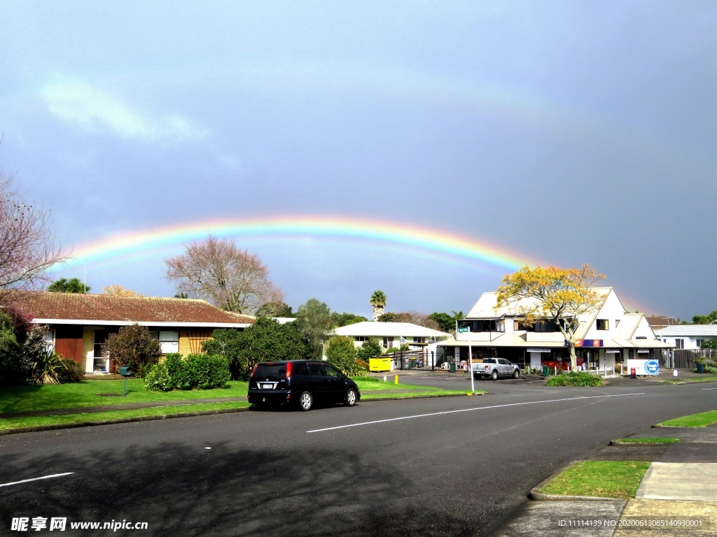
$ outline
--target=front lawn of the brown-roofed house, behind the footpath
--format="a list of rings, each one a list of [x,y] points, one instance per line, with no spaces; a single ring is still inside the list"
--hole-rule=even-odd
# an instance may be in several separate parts
[[[232,381],[227,387],[215,390],[175,390],[151,392],[144,389],[144,380],[127,381],[127,397],[123,393],[123,380],[85,380],[77,384],[54,386],[9,386],[0,388],[0,414],[28,410],[56,408],[97,407],[124,405],[133,402],[172,401],[184,399],[213,399],[214,397],[240,397],[247,395],[247,382]],[[98,394],[105,394],[98,395]],[[106,397],[113,394],[120,397]]]

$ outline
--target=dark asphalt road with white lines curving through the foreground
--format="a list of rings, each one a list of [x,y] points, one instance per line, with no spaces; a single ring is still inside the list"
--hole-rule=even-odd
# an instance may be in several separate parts
[[[20,534],[12,517],[55,516],[148,523],[117,535],[489,535],[561,465],[717,408],[705,384],[481,387],[493,395],[0,437],[0,485],[72,472],[0,486],[0,534]]]

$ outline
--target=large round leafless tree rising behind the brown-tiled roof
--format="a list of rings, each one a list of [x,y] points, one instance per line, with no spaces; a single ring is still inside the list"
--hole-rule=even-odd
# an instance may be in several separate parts
[[[254,314],[266,302],[284,295],[269,279],[269,269],[255,253],[240,250],[234,241],[208,236],[186,246],[182,256],[167,258],[166,278],[177,293],[204,299],[227,311]]]

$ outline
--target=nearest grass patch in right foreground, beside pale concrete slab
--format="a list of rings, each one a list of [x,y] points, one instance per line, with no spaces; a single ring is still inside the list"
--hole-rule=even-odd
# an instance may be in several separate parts
[[[541,493],[598,498],[635,498],[650,463],[634,460],[583,460],[551,480]]]

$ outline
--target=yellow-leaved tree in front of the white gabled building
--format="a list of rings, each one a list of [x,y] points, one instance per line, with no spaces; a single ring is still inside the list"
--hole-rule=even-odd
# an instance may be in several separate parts
[[[537,321],[554,321],[565,337],[570,353],[570,369],[575,371],[575,332],[578,316],[589,314],[602,303],[602,296],[590,286],[603,279],[587,263],[579,269],[547,269],[524,266],[516,273],[503,278],[498,287],[496,311],[503,306],[514,306],[514,314],[523,316],[532,326]]]

